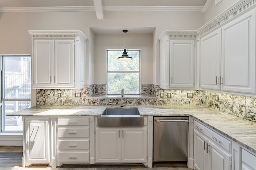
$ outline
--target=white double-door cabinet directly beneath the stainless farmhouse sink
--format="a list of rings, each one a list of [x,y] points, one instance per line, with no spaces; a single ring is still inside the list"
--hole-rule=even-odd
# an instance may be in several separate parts
[[[147,128],[96,127],[96,163],[147,161]]]

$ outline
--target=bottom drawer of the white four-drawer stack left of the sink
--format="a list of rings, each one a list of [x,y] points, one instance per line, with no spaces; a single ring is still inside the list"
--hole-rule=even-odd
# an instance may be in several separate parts
[[[89,162],[89,152],[79,152],[79,153],[59,153],[59,162]]]

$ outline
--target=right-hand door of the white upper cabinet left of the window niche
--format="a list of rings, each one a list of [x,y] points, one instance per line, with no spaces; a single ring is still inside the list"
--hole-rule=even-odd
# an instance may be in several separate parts
[[[74,87],[74,40],[54,41],[54,87]]]

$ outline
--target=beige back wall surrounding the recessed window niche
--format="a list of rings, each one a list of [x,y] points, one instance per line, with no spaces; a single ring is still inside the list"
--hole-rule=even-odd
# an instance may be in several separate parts
[[[155,32],[147,43],[146,49],[152,54],[149,58],[142,59],[142,65],[148,66],[150,72],[144,74],[142,83],[159,84],[159,42],[158,37],[163,31],[170,29],[196,30],[203,25],[204,14],[202,12],[104,12],[104,20],[97,20],[95,12],[6,12],[0,18],[0,54],[31,54],[32,43],[28,30],[31,29],[78,29],[82,31],[89,40],[87,41],[86,84],[96,84],[105,82],[99,80],[99,74],[93,70],[102,63],[97,60],[98,47],[90,47],[94,35],[90,35],[90,27],[155,27]],[[103,35],[102,35],[103,36]],[[107,35],[106,35],[107,36]],[[116,44],[118,48],[123,48],[123,36],[121,35],[121,44]],[[90,42],[92,41],[92,42]],[[107,42],[107,41],[105,41]],[[128,39],[127,39],[128,42]],[[140,41],[142,43],[142,41]],[[153,45],[152,45],[153,44]],[[97,43],[96,43],[97,45]],[[112,44],[114,46],[114,44]],[[142,45],[142,44],[140,44]],[[148,46],[149,45],[149,46]],[[131,47],[129,47],[131,48]],[[133,47],[132,47],[133,48]],[[135,48],[135,47],[134,47]],[[104,52],[105,53],[105,50]],[[104,55],[105,56],[105,55]],[[89,58],[88,58],[89,57]],[[94,61],[95,57],[95,61]],[[150,63],[151,62],[151,63]],[[95,64],[95,69],[93,68]],[[89,72],[89,73],[88,73]],[[151,76],[151,77],[149,77]]]

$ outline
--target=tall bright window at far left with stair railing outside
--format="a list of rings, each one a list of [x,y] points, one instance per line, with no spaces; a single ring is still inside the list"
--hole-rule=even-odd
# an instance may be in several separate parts
[[[31,57],[1,56],[1,65],[1,132],[22,131],[22,117],[6,114],[30,107]]]

